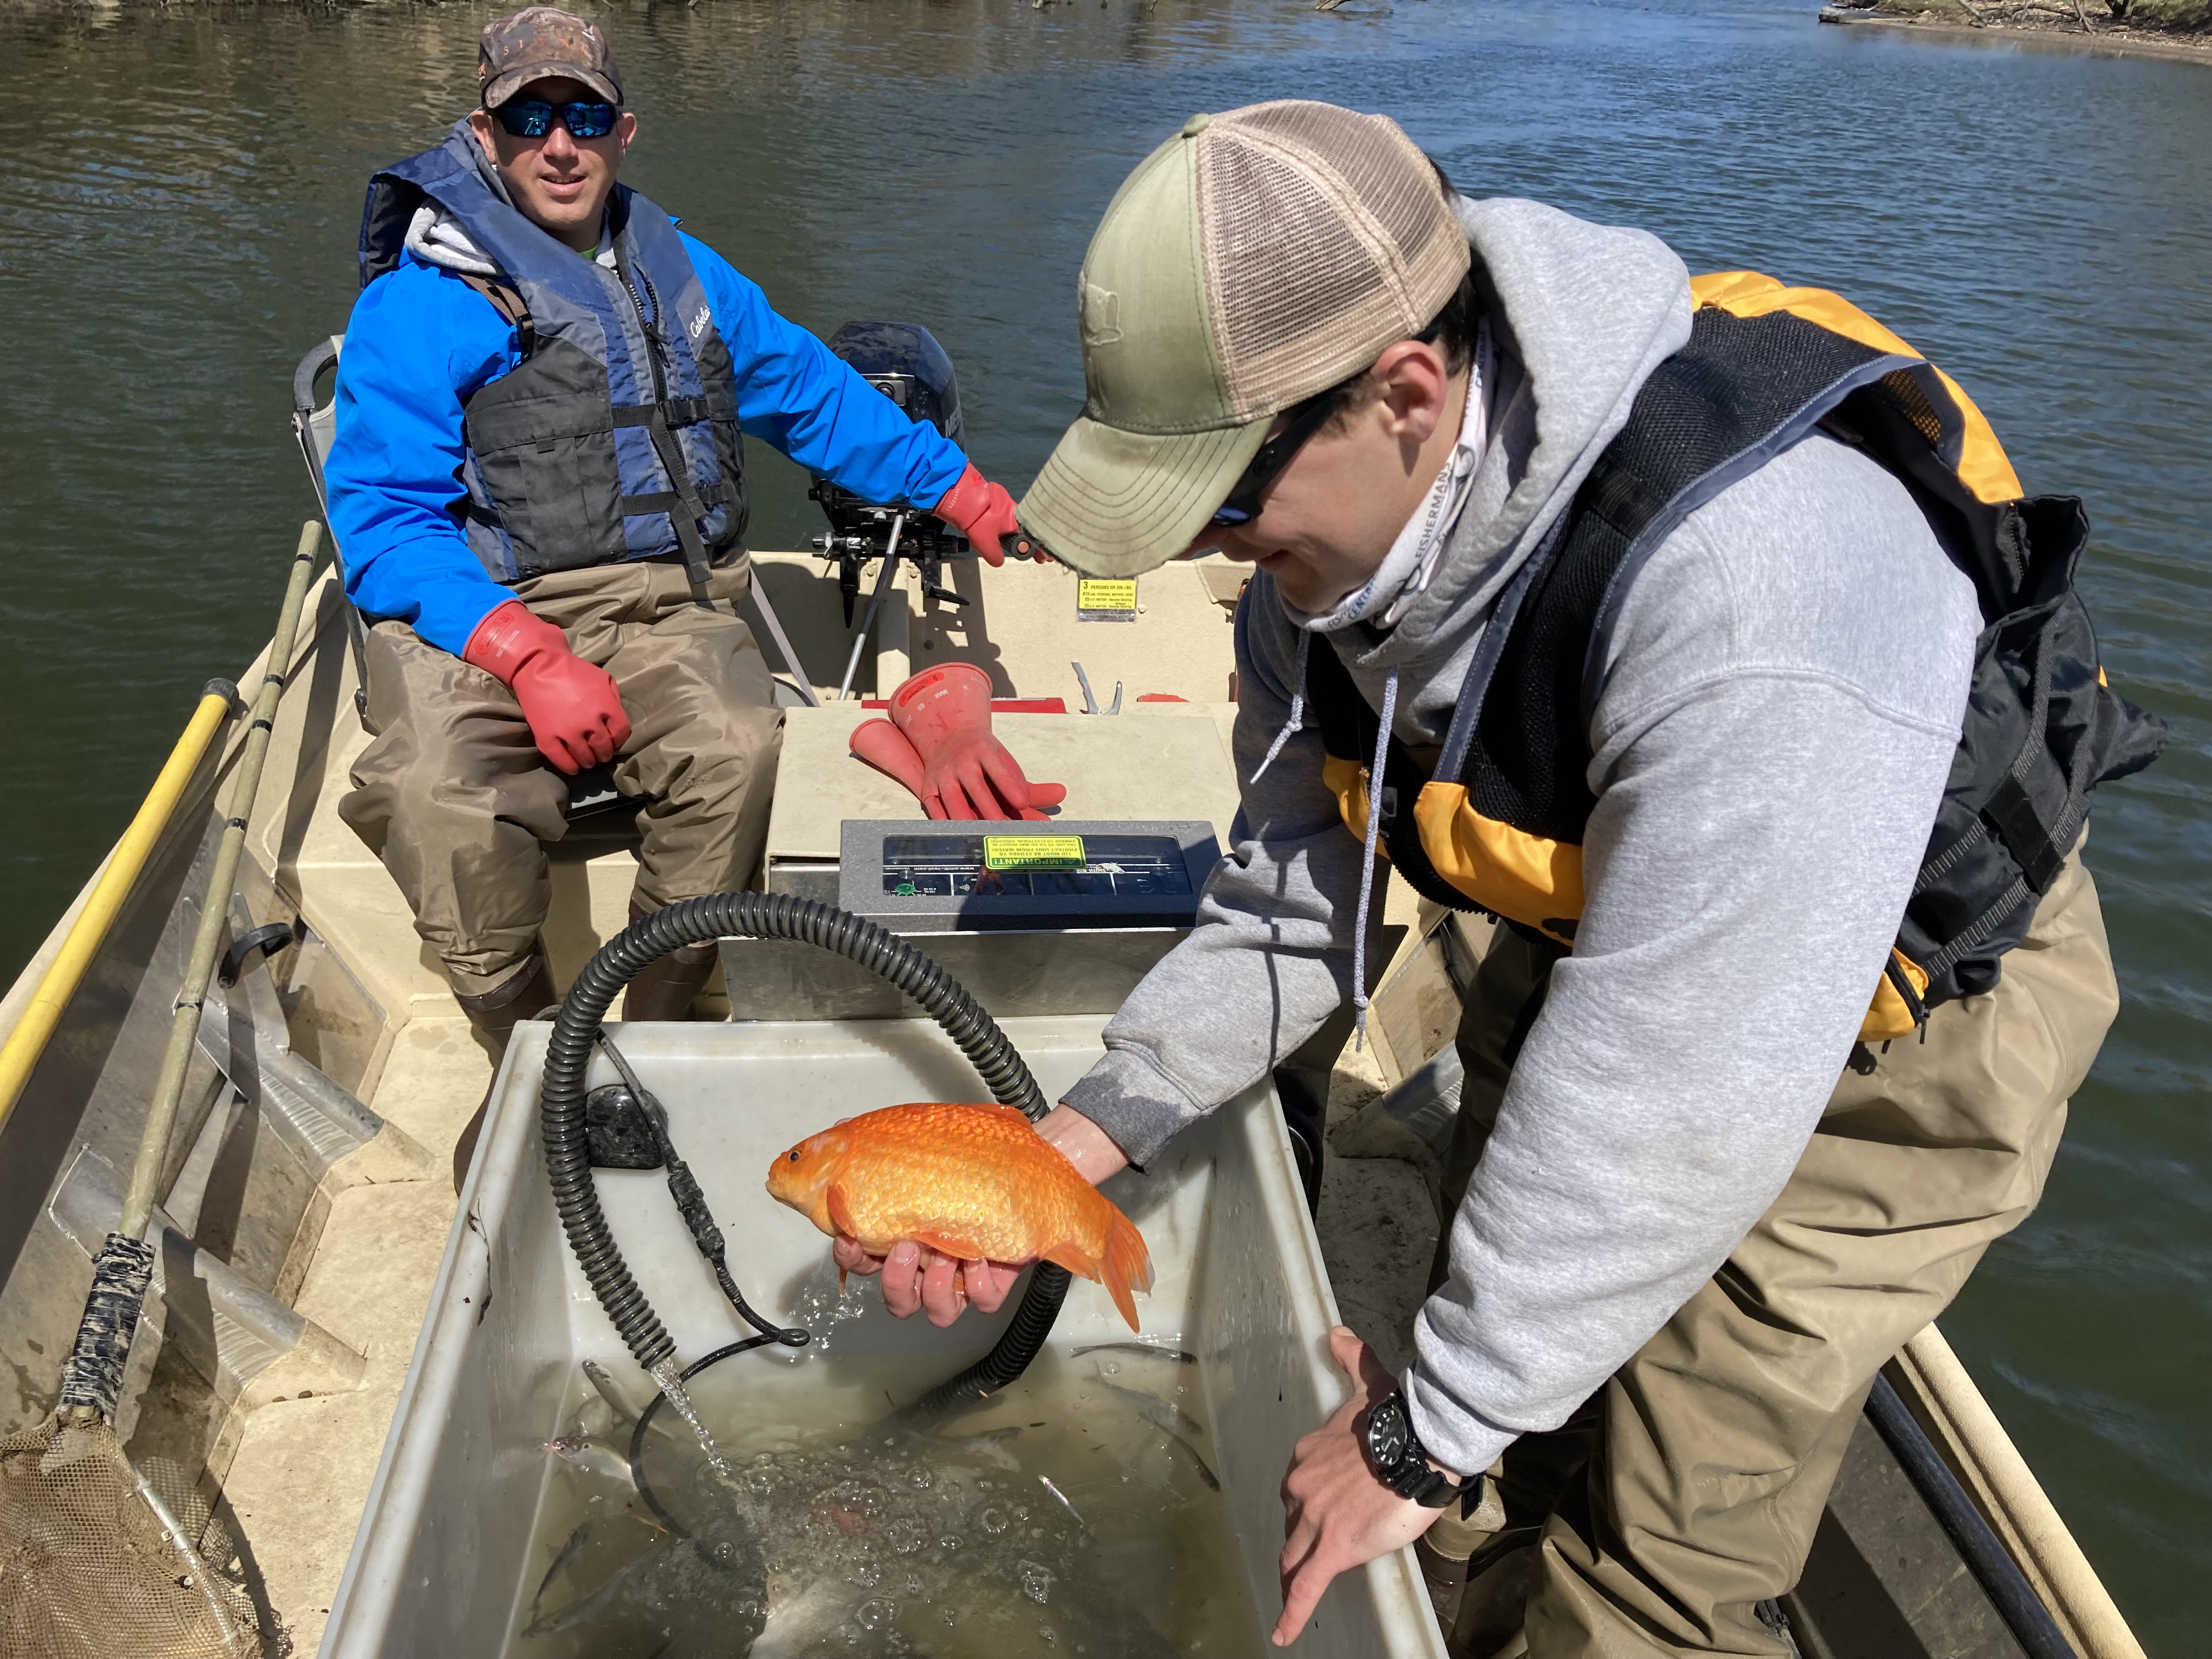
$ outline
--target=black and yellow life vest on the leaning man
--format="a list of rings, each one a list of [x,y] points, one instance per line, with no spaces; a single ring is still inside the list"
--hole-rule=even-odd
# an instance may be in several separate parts
[[[1949,374],[1849,301],[1756,272],[1690,283],[1690,343],[1637,394],[1575,502],[1498,599],[1433,765],[1389,741],[1378,852],[1422,896],[1573,945],[1601,639],[1644,560],[1816,427],[1887,467],[1973,577],[1982,635],[1936,827],[1860,1040],[1997,984],[2090,790],[2141,770],[2166,723],[2106,688],[2073,575],[2088,515],[2020,493]],[[1367,836],[1378,717],[1334,648],[1307,706],[1345,825]],[[1411,807],[1411,812],[1407,812]]]

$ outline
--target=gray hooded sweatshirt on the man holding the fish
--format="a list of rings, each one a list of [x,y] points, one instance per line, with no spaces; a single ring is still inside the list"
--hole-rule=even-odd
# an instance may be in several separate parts
[[[1500,588],[1690,338],[1688,272],[1655,237],[1458,206],[1493,294],[1489,442],[1420,597],[1394,628],[1332,633],[1371,708],[1396,675],[1416,752],[1442,743]],[[1250,781],[1292,723],[1301,622],[1256,573],[1232,847],[1066,1095],[1137,1164],[1352,993],[1365,849],[1323,787],[1318,728]],[[1564,1422],[1790,1179],[1905,914],[1978,630],[1973,584],[1905,487],[1825,436],[1694,511],[1635,575],[1588,723],[1575,951],[1416,1323],[1405,1391],[1440,1462],[1486,1469]]]

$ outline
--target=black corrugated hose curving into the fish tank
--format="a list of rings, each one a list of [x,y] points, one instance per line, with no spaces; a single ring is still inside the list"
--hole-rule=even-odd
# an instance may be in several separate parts
[[[641,922],[630,922],[591,958],[560,1004],[553,1037],[546,1042],[540,1126],[553,1203],[560,1208],[568,1248],[575,1252],[584,1279],[591,1281],[599,1307],[615,1321],[622,1340],[648,1371],[675,1354],[675,1340],[637,1287],[637,1279],[630,1276],[622,1250],[608,1232],[606,1214],[599,1210],[599,1190],[591,1175],[591,1150],[584,1133],[584,1071],[591,1064],[599,1022],[606,1020],[606,1006],[646,962],[684,945],[706,945],[732,936],[801,940],[883,975],[914,998],[945,1029],[945,1035],[960,1044],[960,1053],[982,1073],[984,1086],[1002,1106],[1015,1106],[1031,1119],[1044,1117],[1048,1110],[1037,1079],[1022,1064],[1022,1055],[1006,1042],[1006,1033],[991,1015],[975,1004],[975,998],[918,949],[863,916],[787,894],[712,894],[686,898],[653,911]],[[1068,1272],[1040,1261],[1031,1272],[1029,1294],[1022,1296],[1013,1323],[991,1352],[960,1376],[940,1383],[900,1416],[907,1420],[922,1413],[942,1416],[1013,1383],[1044,1347],[1066,1294]],[[686,1376],[703,1365],[695,1365]]]

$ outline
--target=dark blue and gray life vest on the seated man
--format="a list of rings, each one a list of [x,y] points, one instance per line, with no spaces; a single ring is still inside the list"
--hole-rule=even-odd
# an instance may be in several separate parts
[[[462,405],[465,495],[453,504],[495,582],[684,555],[703,580],[745,533],[737,372],[684,239],[615,186],[615,270],[511,208],[467,122],[369,179],[361,285],[405,259],[407,223],[436,201],[498,265],[465,279],[513,325],[522,363]]]

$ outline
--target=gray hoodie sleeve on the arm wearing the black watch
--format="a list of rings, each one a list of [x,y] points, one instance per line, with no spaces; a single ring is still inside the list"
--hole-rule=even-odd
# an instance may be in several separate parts
[[[1783,1190],[1905,914],[1978,626],[1905,489],[1827,440],[1635,580],[1575,951],[1413,1327],[1405,1389],[1444,1464],[1564,1422]]]

